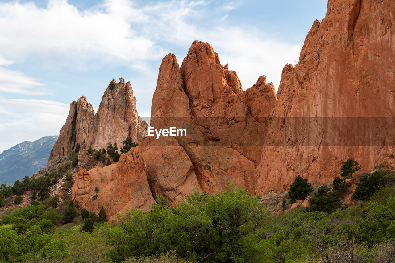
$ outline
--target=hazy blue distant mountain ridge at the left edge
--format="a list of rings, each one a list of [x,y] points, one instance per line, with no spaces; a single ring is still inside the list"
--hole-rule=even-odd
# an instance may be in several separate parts
[[[13,183],[44,168],[57,139],[58,136],[45,136],[4,150],[0,154],[0,183]]]

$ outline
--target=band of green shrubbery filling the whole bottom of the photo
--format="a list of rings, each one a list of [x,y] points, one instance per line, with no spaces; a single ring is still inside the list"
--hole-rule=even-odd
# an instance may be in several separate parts
[[[324,186],[314,196],[318,194],[317,203],[324,207],[331,203],[328,195],[337,191]],[[79,225],[62,228],[55,225],[77,211],[74,205],[65,202],[55,210],[34,201],[2,216],[0,261],[391,262],[394,196],[394,186],[387,185],[371,201],[337,210],[316,209],[331,210],[331,214],[294,210],[275,215],[257,197],[228,188],[214,195],[195,192],[177,208],[168,207],[159,197],[151,212],[131,210],[113,224],[100,223],[104,209],[99,216],[83,209],[83,221],[75,220]],[[28,242],[34,242],[31,249]]]

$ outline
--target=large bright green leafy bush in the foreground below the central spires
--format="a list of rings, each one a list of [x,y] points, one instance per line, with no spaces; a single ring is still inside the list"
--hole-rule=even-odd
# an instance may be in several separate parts
[[[270,215],[257,197],[242,188],[214,195],[194,192],[176,208],[163,198],[152,210],[131,210],[119,216],[115,227],[103,231],[113,248],[109,257],[120,262],[129,257],[166,254],[193,257],[194,262],[260,262],[270,256],[269,246],[254,231]]]

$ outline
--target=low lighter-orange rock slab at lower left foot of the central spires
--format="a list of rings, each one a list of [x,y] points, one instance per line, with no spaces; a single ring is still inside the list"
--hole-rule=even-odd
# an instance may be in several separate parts
[[[147,182],[144,161],[138,152],[122,154],[118,163],[94,167],[89,171],[81,166],[73,175],[73,180],[73,201],[96,214],[103,206],[109,221],[130,209],[147,211],[155,203]],[[98,195],[93,200],[96,187]]]

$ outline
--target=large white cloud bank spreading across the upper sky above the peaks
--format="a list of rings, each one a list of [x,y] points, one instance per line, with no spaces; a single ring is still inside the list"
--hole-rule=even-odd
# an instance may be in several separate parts
[[[258,29],[216,27],[214,22],[220,23],[227,15],[208,17],[204,9],[208,3],[171,0],[137,6],[132,0],[105,0],[85,11],[66,0],[49,0],[46,8],[32,3],[0,3],[0,50],[9,61],[34,56],[49,67],[92,70],[117,65],[147,72],[152,71],[148,61],[160,61],[169,52],[177,54],[175,49],[198,39],[209,42],[222,60],[231,63],[244,86],[251,86],[259,75],[267,75],[277,87],[282,67],[298,57],[295,47],[266,39]],[[222,10],[238,6],[229,2]],[[199,19],[212,19],[213,26],[199,27]],[[181,64],[186,54],[177,55]]]

